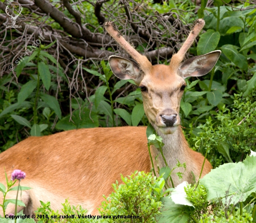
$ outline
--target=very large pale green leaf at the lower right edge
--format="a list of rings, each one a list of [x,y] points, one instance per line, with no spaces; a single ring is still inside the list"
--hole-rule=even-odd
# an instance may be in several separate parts
[[[255,176],[256,157],[247,156],[243,162],[223,164],[211,170],[200,180],[200,184],[207,189],[207,200],[225,197],[228,191],[231,203],[238,203],[256,192]]]

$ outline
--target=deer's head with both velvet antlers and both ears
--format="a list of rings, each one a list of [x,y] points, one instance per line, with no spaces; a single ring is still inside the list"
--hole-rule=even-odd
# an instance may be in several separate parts
[[[221,54],[221,51],[216,50],[182,62],[204,24],[202,19],[195,21],[188,38],[179,52],[172,56],[169,65],[154,66],[146,56],[128,44],[113,22],[107,21],[104,24],[107,32],[137,62],[135,64],[128,59],[110,56],[109,65],[113,73],[120,79],[133,79],[136,85],[139,85],[149,122],[155,130],[160,130],[164,134],[174,133],[180,125],[180,102],[186,87],[184,79],[207,74]]]

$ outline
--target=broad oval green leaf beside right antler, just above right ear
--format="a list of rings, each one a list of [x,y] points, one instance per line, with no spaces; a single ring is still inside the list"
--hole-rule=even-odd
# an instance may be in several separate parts
[[[197,55],[214,51],[218,46],[220,37],[220,33],[215,32],[212,29],[209,29],[206,33],[203,33],[197,45]]]

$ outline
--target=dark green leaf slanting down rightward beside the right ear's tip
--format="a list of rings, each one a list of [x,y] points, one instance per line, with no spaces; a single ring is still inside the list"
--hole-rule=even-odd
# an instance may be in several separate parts
[[[227,44],[222,46],[221,49],[225,56],[230,59],[236,66],[243,69],[244,71],[248,70],[247,59],[245,56],[238,53],[235,46]]]

